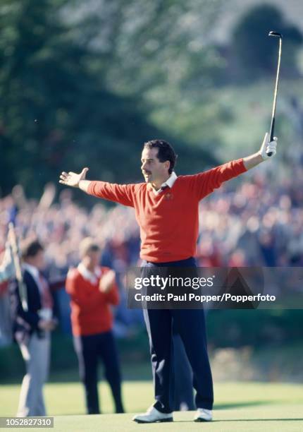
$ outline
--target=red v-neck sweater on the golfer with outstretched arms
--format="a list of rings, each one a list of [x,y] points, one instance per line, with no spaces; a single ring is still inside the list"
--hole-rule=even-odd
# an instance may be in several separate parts
[[[172,188],[155,194],[151,184],[111,184],[91,181],[88,193],[135,208],[140,226],[140,258],[168,263],[195,256],[199,229],[198,207],[223,181],[246,172],[242,159],[206,172],[178,176]]]

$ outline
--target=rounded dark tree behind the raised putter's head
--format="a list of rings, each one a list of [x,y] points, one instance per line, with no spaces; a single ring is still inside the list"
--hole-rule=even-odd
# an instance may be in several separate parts
[[[268,37],[271,30],[283,35],[281,74],[294,76],[297,73],[295,54],[302,44],[301,32],[286,23],[276,6],[260,4],[247,11],[233,30],[233,52],[247,79],[272,75],[276,71],[278,42],[275,37]]]

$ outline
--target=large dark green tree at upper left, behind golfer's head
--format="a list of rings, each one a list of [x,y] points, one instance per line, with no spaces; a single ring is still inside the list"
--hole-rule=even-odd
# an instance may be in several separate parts
[[[75,25],[70,18],[73,4],[79,2],[1,2],[2,193],[8,193],[19,182],[37,195],[46,182],[58,179],[61,170],[77,170],[83,165],[89,166],[96,177],[102,173],[104,180],[137,180],[141,145],[155,137],[173,139],[181,170],[202,169],[202,162],[214,162],[208,150],[191,150],[182,140],[175,140],[168,131],[160,131],[147,120],[149,105],[144,97],[123,90],[130,76],[134,85],[137,81],[144,88],[144,73],[139,74],[135,68],[125,73],[122,54],[119,57],[113,46],[118,45],[115,38],[110,38],[113,45],[107,52],[103,49],[102,54],[95,41],[102,21],[97,16],[81,15],[79,25]],[[108,13],[113,6],[115,11],[118,6],[123,10],[120,0],[101,4],[106,4]],[[131,4],[140,7],[138,1]],[[157,4],[160,7],[160,2]],[[119,25],[119,21],[114,25],[117,32]],[[101,42],[106,46],[105,36]],[[130,47],[125,49],[125,64],[129,66]],[[140,68],[144,69],[143,54],[141,59]],[[114,68],[120,70],[120,83],[124,82],[116,88],[109,84]]]

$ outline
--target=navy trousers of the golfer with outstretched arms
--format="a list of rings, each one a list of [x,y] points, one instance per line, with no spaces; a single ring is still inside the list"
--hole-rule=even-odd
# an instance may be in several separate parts
[[[171,263],[149,263],[142,267],[195,267],[194,258]],[[144,270],[144,269],[143,269]],[[197,408],[212,409],[213,380],[207,353],[206,325],[203,309],[144,309],[149,335],[154,378],[154,407],[160,412],[173,411],[173,328],[180,335],[192,367],[192,385]],[[178,379],[178,377],[175,377]]]

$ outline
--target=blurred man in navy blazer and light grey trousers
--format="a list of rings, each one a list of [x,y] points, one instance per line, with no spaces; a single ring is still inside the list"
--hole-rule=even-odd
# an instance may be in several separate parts
[[[27,311],[23,310],[18,286],[12,293],[13,333],[25,361],[17,416],[45,416],[43,385],[49,371],[54,302],[47,280],[42,275],[44,248],[37,240],[21,245],[23,281],[27,290]]]

